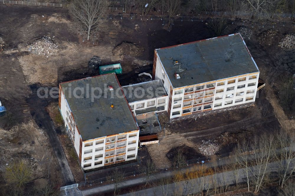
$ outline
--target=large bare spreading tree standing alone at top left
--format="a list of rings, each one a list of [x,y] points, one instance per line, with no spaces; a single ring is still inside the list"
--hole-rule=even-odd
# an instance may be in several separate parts
[[[108,5],[107,0],[72,0],[69,12],[74,20],[73,31],[86,34],[89,40],[91,34],[99,31]]]

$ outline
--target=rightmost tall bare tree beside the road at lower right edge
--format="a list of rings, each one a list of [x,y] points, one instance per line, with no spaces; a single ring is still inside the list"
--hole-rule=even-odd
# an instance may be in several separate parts
[[[294,176],[295,172],[295,136],[289,136],[287,133],[280,133],[277,135],[278,149],[276,159],[279,165],[280,186],[283,188],[285,182]]]

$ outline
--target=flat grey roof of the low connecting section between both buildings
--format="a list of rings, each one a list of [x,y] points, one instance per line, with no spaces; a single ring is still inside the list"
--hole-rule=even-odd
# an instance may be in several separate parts
[[[122,88],[129,103],[167,96],[161,80],[152,80],[148,82],[132,84]]]

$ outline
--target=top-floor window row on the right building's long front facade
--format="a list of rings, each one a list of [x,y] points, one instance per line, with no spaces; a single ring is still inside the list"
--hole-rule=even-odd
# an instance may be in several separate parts
[[[256,78],[257,78],[257,75],[250,76],[249,77],[249,80],[256,79]],[[238,82],[243,82],[243,81],[246,81],[246,77],[243,77],[243,78],[239,78],[238,79]],[[233,79],[233,80],[227,81],[227,84],[234,84],[235,82],[236,82],[236,79]],[[225,84],[225,82],[218,82],[217,83],[217,87],[218,86],[223,86],[224,84]],[[250,84],[254,84],[255,85],[255,83],[250,83]],[[186,88],[186,89],[184,89],[184,93],[188,93],[188,92],[193,92],[193,91],[198,91],[198,90],[204,89],[204,86],[205,85]],[[213,83],[213,84],[207,84],[206,85],[206,89],[213,88],[214,86],[215,86],[215,83]],[[243,85],[240,85],[240,86],[243,86]],[[250,85],[250,86],[253,86],[253,85]],[[248,87],[249,87],[249,84],[248,84]],[[240,88],[243,88],[243,87],[240,87]],[[174,92],[175,95],[176,94],[182,94],[182,93],[183,93],[183,89]]]

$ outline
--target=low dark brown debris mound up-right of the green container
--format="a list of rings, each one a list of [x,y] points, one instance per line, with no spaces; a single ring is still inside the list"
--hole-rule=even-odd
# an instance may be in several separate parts
[[[113,54],[116,56],[128,55],[137,57],[140,56],[143,51],[144,49],[140,46],[137,46],[135,43],[122,42],[114,48]]]

